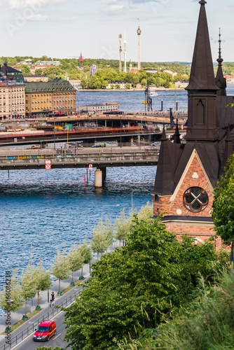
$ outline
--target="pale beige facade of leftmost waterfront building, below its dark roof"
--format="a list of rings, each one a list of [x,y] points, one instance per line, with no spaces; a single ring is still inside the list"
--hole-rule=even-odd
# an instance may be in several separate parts
[[[1,80],[0,120],[25,118],[25,85],[22,81]]]

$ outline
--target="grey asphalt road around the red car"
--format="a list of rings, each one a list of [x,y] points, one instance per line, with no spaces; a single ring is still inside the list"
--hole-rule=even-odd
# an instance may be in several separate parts
[[[64,323],[64,311],[57,314],[57,316],[53,317],[57,326],[57,334],[50,338],[49,342],[34,342],[33,335],[30,335],[25,340],[23,340],[20,344],[13,347],[14,350],[34,350],[38,349],[41,346],[51,346],[52,349],[55,346],[60,346],[62,349],[65,349],[67,346],[67,342],[64,342],[62,339],[65,335],[65,325]],[[70,349],[70,348],[68,348]]]

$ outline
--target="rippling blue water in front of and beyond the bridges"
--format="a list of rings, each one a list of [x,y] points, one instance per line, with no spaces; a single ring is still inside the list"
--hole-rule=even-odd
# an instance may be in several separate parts
[[[234,94],[234,85],[228,85]],[[79,104],[119,102],[123,111],[144,110],[144,92],[78,92]],[[174,106],[174,91],[158,91],[153,109]],[[179,109],[187,109],[187,92],[177,92]],[[5,271],[43,260],[53,262],[56,248],[69,248],[92,237],[93,225],[107,214],[115,221],[123,209],[139,210],[151,202],[156,167],[109,167],[104,188],[95,189],[94,170],[84,192],[86,169],[20,170],[0,172],[0,288]],[[118,204],[118,206],[117,206]]]

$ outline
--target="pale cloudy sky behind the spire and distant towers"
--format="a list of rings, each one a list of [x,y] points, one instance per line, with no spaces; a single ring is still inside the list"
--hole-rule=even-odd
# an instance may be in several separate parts
[[[0,0],[0,56],[118,59],[118,36],[127,41],[127,60],[137,62],[137,28],[142,62],[191,62],[199,0]],[[205,5],[213,61],[234,62],[234,1]],[[137,20],[139,19],[139,21]],[[123,46],[123,45],[122,45]]]

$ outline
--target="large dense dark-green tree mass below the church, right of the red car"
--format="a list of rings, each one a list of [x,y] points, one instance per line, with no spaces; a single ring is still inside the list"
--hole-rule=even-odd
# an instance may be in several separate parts
[[[102,350],[135,339],[145,328],[168,320],[192,298],[200,274],[214,280],[214,244],[179,244],[160,218],[137,216],[126,246],[92,265],[91,279],[65,319],[71,349]]]

